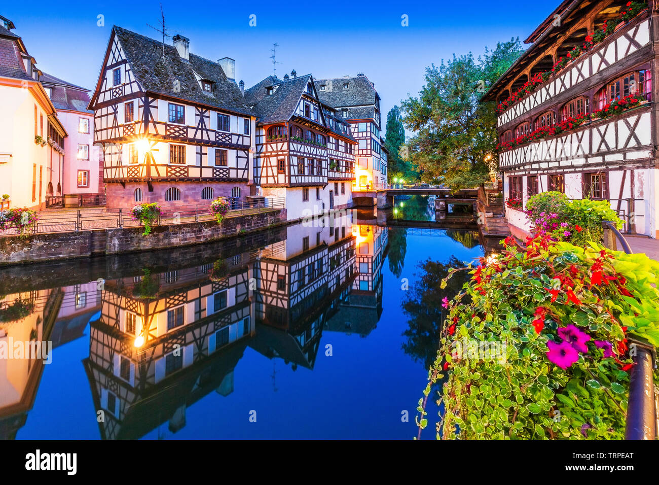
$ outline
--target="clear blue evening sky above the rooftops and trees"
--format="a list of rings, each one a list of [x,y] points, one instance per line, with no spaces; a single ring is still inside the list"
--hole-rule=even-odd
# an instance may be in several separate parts
[[[270,49],[277,49],[277,75],[295,69],[317,78],[365,73],[375,82],[384,115],[424,83],[426,66],[453,53],[483,53],[499,40],[525,39],[558,0],[511,3],[331,1],[186,2],[164,0],[173,34],[190,38],[190,51],[209,59],[236,59],[237,79],[252,86],[272,74]],[[126,5],[121,7],[121,5]],[[201,8],[200,5],[208,5]],[[309,5],[309,7],[305,7]],[[328,7],[329,5],[329,7]],[[157,1],[107,3],[43,0],[5,4],[0,15],[16,24],[37,65],[51,75],[94,88],[113,24],[153,38],[160,34]],[[105,26],[97,26],[98,15]],[[250,15],[256,26],[250,27]],[[407,15],[409,26],[401,26]]]

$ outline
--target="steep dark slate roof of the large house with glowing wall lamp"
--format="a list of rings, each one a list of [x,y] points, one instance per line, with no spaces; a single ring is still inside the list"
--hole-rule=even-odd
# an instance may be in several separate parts
[[[246,106],[238,85],[227,79],[218,63],[192,53],[190,62],[185,62],[177,49],[167,44],[163,59],[162,42],[125,28],[114,26],[113,29],[136,81],[144,90],[235,113],[254,115]],[[202,90],[193,70],[202,79],[215,83],[212,95]],[[174,90],[175,80],[180,82],[180,92]]]

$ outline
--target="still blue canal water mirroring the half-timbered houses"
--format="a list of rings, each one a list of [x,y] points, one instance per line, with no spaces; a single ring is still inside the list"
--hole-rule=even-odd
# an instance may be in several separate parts
[[[411,439],[462,283],[440,280],[484,254],[473,225],[432,222],[450,219],[415,196],[384,218],[1,270],[0,346],[53,348],[0,359],[0,437]]]

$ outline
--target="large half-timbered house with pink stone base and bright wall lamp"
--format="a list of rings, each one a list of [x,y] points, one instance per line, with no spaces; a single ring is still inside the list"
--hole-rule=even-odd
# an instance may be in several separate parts
[[[254,113],[235,81],[235,61],[190,53],[113,27],[92,95],[107,205],[210,203],[252,191]]]

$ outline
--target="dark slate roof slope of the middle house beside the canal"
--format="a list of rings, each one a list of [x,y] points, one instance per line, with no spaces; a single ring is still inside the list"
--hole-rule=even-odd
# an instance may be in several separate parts
[[[312,79],[310,74],[298,76],[293,79],[281,81],[276,77],[268,76],[263,81],[252,86],[245,92],[245,99],[255,100],[252,110],[259,117],[259,123],[278,123],[288,121],[295,113],[302,92]],[[278,82],[273,82],[274,80]],[[268,84],[273,83],[271,86]],[[270,95],[267,88],[275,88]]]

